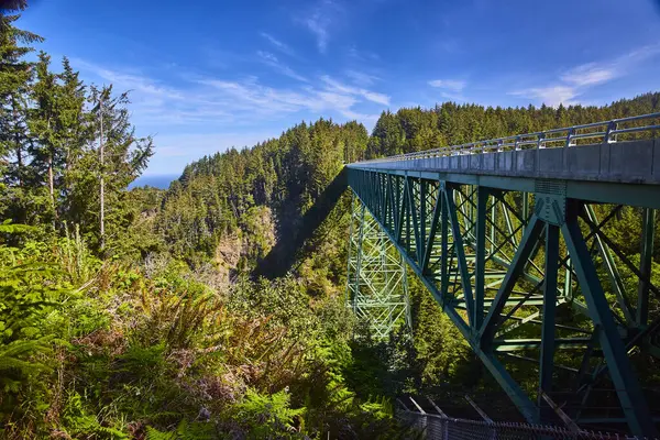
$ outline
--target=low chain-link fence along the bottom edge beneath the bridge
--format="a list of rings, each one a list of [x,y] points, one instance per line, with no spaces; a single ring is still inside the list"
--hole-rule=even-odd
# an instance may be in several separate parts
[[[641,439],[640,437],[630,437],[618,433],[587,430],[571,431],[568,428],[557,426],[458,419],[410,410],[397,410],[396,417],[399,422],[410,426],[421,432],[422,438],[426,440]]]

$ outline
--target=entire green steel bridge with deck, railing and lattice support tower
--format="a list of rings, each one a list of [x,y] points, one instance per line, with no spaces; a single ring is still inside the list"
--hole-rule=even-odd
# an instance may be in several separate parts
[[[348,305],[387,338],[411,271],[528,422],[657,436],[658,133],[654,113],[346,165]]]

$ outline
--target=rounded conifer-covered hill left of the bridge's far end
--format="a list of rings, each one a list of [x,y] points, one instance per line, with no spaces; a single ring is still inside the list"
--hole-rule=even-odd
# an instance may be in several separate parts
[[[251,270],[275,234],[295,233],[344,160],[363,154],[366,140],[361,124],[320,119],[250,150],[202,157],[167,191],[156,229],[174,254],[193,263],[215,257],[231,270]],[[227,250],[235,248],[227,243],[232,234],[235,256]]]

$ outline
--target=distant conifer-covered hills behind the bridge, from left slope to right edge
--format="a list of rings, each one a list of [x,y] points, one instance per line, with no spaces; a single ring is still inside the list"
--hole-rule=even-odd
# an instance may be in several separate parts
[[[287,237],[345,163],[652,113],[658,109],[660,92],[604,107],[503,109],[444,102],[428,110],[384,111],[371,136],[356,122],[302,122],[278,139],[252,148],[217,153],[188,165],[166,193],[156,223],[175,253],[188,251],[202,260],[216,255],[223,262],[217,254],[221,237],[238,237],[239,230],[254,232],[267,223],[274,227],[270,231],[275,235]],[[241,268],[252,267],[273,245],[275,235],[263,232],[260,244],[248,239],[244,242],[242,256],[246,258],[241,260]]]

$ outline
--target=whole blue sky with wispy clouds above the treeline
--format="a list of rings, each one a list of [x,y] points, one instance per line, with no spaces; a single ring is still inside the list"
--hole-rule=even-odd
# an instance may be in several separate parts
[[[652,0],[32,0],[20,25],[132,90],[147,175],[277,136],[453,100],[602,105],[660,89]]]

